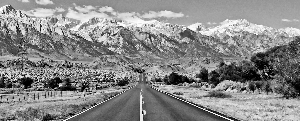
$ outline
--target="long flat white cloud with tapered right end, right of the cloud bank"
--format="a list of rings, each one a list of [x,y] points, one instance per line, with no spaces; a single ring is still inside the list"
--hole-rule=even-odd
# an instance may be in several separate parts
[[[182,12],[174,13],[169,10],[163,10],[163,11],[149,11],[149,13],[144,13],[144,15],[141,15],[142,18],[158,18],[158,17],[166,17],[166,18],[179,18],[183,17],[184,14]]]

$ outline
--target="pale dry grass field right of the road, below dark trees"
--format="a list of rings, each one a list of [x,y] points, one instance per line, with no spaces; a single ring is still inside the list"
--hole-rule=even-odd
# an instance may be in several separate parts
[[[227,98],[205,97],[209,91],[185,86],[161,86],[168,93],[182,92],[187,101],[243,121],[300,121],[300,100],[283,99],[279,94],[225,93]]]

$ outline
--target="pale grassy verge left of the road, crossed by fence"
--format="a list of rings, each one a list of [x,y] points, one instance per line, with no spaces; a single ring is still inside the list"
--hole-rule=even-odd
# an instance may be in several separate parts
[[[134,84],[85,92],[86,100],[84,100],[83,94],[78,93],[77,96],[73,97],[50,97],[43,100],[3,103],[0,104],[0,121],[58,121],[66,119],[125,91],[131,86]]]

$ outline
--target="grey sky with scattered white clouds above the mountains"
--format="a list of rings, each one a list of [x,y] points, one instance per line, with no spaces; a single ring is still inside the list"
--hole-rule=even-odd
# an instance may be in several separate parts
[[[63,14],[74,21],[99,17],[211,27],[226,19],[246,19],[300,29],[300,0],[0,0],[0,6],[8,4],[32,17]]]

